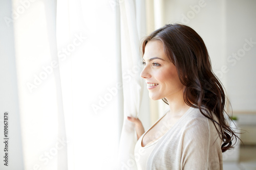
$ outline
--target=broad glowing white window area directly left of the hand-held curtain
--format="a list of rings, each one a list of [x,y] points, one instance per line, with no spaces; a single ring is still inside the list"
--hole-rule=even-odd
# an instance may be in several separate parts
[[[115,11],[109,1],[57,2],[68,169],[114,169],[118,135]]]

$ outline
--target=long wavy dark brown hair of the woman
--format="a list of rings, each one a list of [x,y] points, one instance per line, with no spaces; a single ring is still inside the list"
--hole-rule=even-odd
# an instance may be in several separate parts
[[[141,46],[143,55],[147,42],[151,40],[162,41],[165,54],[176,66],[179,79],[185,85],[185,103],[198,108],[205,117],[214,122],[223,140],[222,152],[233,148],[231,140],[236,138],[237,142],[239,137],[225,118],[226,95],[221,82],[212,71],[203,39],[188,26],[178,23],[165,25],[145,37]],[[168,104],[165,98],[162,100]]]

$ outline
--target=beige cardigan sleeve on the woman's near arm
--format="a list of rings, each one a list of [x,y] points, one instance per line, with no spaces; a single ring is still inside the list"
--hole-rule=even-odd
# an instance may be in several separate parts
[[[222,169],[221,140],[206,117],[189,121],[184,128],[181,166],[189,169]]]

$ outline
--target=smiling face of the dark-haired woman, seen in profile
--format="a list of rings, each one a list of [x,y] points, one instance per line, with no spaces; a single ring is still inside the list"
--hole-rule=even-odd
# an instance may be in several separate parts
[[[143,55],[144,69],[140,76],[145,79],[150,98],[159,100],[183,94],[175,65],[169,61],[160,40],[148,41]]]

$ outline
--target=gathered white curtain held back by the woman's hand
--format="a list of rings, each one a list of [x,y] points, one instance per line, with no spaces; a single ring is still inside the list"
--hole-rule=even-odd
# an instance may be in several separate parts
[[[121,61],[123,81],[124,118],[119,142],[119,169],[137,169],[134,147],[137,135],[127,116],[138,117],[143,96],[143,80],[139,53],[140,39],[145,34],[144,1],[119,1],[121,20]],[[142,12],[140,12],[140,10]],[[142,19],[143,18],[143,19]],[[138,25],[141,23],[142,25]],[[139,30],[138,30],[139,29]]]

